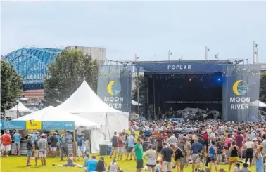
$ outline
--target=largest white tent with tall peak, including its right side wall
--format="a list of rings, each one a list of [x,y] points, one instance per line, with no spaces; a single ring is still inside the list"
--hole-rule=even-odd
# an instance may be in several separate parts
[[[101,124],[106,139],[110,139],[115,131],[127,129],[129,125],[129,113],[108,106],[94,93],[86,81],[83,81],[68,100],[56,108]]]

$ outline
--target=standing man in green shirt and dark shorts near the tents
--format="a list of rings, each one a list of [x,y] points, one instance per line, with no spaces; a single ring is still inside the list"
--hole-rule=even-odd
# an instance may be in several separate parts
[[[137,144],[134,146],[132,150],[132,154],[134,154],[134,157],[137,161],[136,172],[141,172],[141,169],[144,167],[143,166],[143,148],[141,144],[142,144],[142,139],[138,138]]]

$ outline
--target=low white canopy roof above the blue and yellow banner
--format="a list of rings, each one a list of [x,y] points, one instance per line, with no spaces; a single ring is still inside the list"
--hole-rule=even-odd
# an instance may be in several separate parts
[[[23,117],[14,119],[15,121],[28,121],[28,120],[35,120],[35,121],[75,121],[76,128],[79,126],[86,126],[86,127],[98,127],[100,124],[96,122],[89,121],[82,117],[77,117],[74,114],[70,114],[63,110],[58,110],[56,107],[49,106],[42,110],[38,110],[36,112],[32,112],[31,114],[27,114]]]

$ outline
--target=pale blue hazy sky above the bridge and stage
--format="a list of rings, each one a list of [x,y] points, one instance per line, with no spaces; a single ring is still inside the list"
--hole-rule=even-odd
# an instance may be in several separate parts
[[[1,1],[1,55],[38,46],[106,48],[108,60],[266,63],[266,1]]]

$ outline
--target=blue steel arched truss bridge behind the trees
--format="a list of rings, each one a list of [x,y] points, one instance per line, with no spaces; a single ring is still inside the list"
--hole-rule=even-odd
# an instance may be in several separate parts
[[[56,48],[21,48],[3,59],[23,77],[24,90],[39,89],[43,88],[44,79],[48,77],[49,65],[61,51]]]

